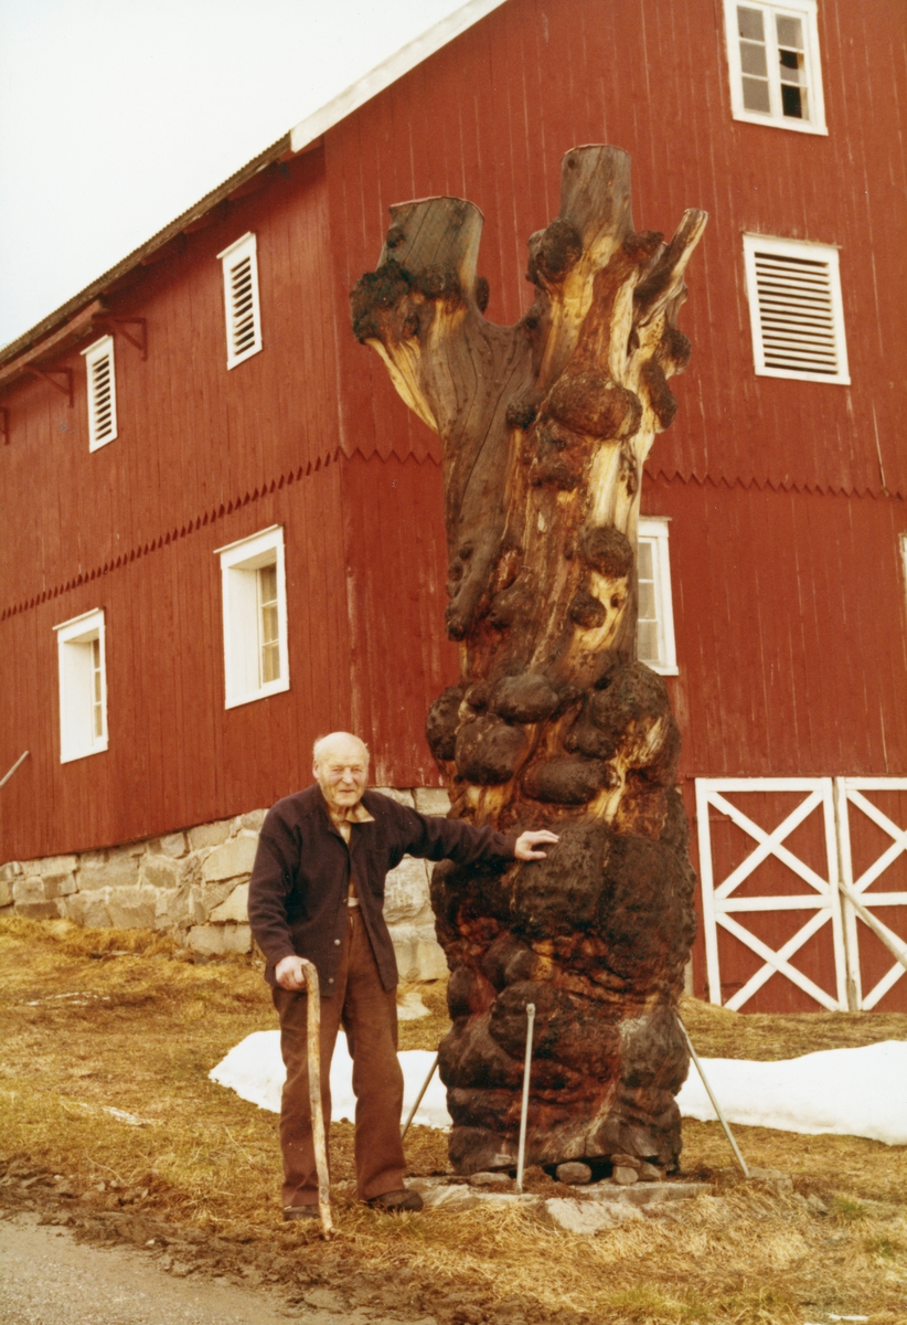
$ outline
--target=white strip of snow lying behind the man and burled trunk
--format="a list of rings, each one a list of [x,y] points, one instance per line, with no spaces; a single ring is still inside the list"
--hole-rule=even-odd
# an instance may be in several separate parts
[[[428,1049],[400,1055],[406,1117],[432,1067]],[[858,1049],[822,1049],[780,1063],[744,1059],[703,1059],[703,1067],[724,1114],[744,1126],[781,1132],[869,1137],[890,1146],[907,1145],[907,1043],[884,1040]],[[279,1113],[283,1063],[279,1031],[246,1036],[209,1073],[261,1109]],[[690,1075],[678,1096],[681,1113],[703,1122],[715,1120],[699,1073]],[[352,1060],[344,1035],[338,1036],[331,1064],[331,1114],[352,1121]],[[414,1121],[426,1128],[450,1128],[446,1090],[436,1072]]]

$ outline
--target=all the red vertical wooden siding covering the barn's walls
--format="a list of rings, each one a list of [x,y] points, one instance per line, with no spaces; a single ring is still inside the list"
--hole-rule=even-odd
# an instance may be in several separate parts
[[[11,390],[0,772],[32,758],[0,792],[0,860],[269,804],[335,726],[363,731],[377,782],[437,782],[424,716],[457,668],[440,447],[354,342],[348,293],[389,204],[446,192],[483,209],[489,314],[515,321],[526,241],[584,142],[630,151],[640,227],[711,213],[644,489],[673,519],[685,788],[907,772],[907,9],[822,0],[820,41],[828,138],[732,121],[718,0],[510,0],[110,295],[148,331],[147,360],[115,331],[114,443],[89,453],[78,352],[58,360],[73,409],[46,382]],[[216,254],[246,231],[263,350],[228,372]],[[744,231],[841,246],[853,386],[755,376]],[[291,690],[225,712],[213,550],[275,522]],[[53,625],[94,607],[110,750],[61,766]]]

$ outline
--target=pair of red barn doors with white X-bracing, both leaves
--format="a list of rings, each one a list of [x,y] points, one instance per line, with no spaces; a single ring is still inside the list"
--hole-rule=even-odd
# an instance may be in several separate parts
[[[696,818],[712,1003],[869,1011],[904,977],[859,910],[904,951],[907,778],[699,778]]]

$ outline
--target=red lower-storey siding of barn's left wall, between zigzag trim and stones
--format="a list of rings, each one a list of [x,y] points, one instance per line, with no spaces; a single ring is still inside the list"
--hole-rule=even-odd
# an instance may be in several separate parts
[[[114,444],[115,445],[115,444]],[[346,726],[350,672],[340,466],[328,465],[1,623],[0,685],[16,702],[5,751],[30,758],[3,788],[3,856],[105,847],[269,806],[311,780],[311,743]],[[224,709],[215,549],[286,530],[291,689]],[[101,607],[103,754],[60,765],[53,627]],[[12,763],[12,759],[9,761]]]

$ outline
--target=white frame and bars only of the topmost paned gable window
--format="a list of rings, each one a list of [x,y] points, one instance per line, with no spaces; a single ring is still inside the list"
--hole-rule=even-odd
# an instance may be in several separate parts
[[[771,44],[767,41],[767,53],[769,53],[771,72],[768,83],[772,109],[768,114],[757,110],[747,110],[743,105],[743,66],[738,32],[738,4],[741,4],[745,9],[760,9],[767,34],[771,30]],[[796,134],[824,134],[828,136],[817,12],[816,0],[787,0],[784,4],[776,4],[775,0],[724,0],[724,37],[731,80],[731,114],[735,119],[741,119],[748,125],[767,125],[771,129],[792,129]],[[802,23],[809,119],[796,119],[794,117],[785,115],[781,110],[780,77],[773,69],[771,58],[771,52],[777,50],[775,37],[775,17],[777,15],[800,19]]]

